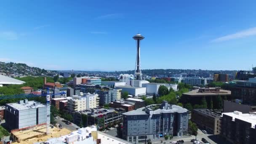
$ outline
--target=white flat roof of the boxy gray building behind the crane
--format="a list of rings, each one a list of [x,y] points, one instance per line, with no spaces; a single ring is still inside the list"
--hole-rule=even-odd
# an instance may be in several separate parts
[[[25,109],[34,109],[34,108],[38,108],[38,107],[46,107],[44,104],[41,104],[38,101],[28,101],[27,104],[22,103],[10,103],[10,104],[6,104],[9,107],[13,107],[14,109],[17,110],[25,110]]]

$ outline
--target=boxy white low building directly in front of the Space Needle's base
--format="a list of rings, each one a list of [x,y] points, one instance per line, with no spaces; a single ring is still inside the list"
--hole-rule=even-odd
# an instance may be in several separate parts
[[[147,88],[144,87],[135,87],[135,86],[117,86],[117,89],[122,89],[122,93],[127,91],[130,95],[133,96],[144,96],[146,95]]]

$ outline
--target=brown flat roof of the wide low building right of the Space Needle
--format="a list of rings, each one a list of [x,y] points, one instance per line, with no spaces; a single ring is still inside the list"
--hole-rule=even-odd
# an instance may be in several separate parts
[[[220,93],[199,93],[198,90],[199,89],[189,91],[187,93],[183,93],[183,95],[187,95],[187,96],[218,96],[218,95],[227,96],[227,95],[231,95],[231,91],[227,91],[227,90],[219,90]]]

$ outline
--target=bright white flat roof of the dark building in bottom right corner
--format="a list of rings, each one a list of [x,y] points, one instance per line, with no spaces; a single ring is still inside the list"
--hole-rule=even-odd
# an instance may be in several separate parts
[[[232,120],[235,121],[235,119],[239,119],[239,120],[243,120],[245,122],[251,123],[251,127],[255,128],[256,125],[256,115],[254,114],[243,114],[242,112],[224,112],[222,113],[223,115],[228,115],[230,117],[232,117]]]

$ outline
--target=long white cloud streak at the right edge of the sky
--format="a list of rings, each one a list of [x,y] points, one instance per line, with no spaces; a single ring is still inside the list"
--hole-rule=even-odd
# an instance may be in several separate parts
[[[242,31],[234,33],[234,34],[226,35],[224,37],[216,38],[216,39],[212,40],[212,42],[222,42],[222,41],[233,40],[233,39],[237,39],[237,38],[248,37],[248,36],[252,36],[252,35],[256,35],[256,27],[253,27],[250,29],[245,29],[245,30],[242,30]]]

